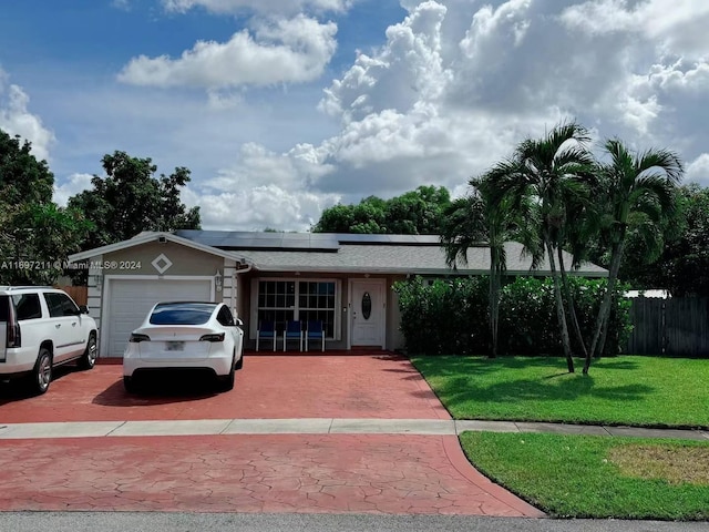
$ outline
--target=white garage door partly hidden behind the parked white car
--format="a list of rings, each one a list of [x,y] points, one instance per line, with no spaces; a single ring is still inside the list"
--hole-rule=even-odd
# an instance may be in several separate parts
[[[212,300],[209,279],[110,279],[109,311],[102,319],[109,339],[102,356],[122,357],[131,331],[157,301]]]

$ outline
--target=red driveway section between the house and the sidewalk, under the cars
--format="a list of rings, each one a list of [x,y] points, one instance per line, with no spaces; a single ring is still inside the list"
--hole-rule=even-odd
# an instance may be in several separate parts
[[[204,385],[204,386],[201,386]],[[0,389],[0,422],[169,419],[450,419],[425,380],[401,357],[247,356],[228,393],[206,380],[187,389],[125,393],[121,366],[97,365],[21,399]]]

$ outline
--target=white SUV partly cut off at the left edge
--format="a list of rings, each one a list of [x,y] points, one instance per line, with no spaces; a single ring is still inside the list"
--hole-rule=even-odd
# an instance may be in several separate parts
[[[52,287],[0,286],[0,380],[27,378],[44,393],[52,368],[96,362],[96,323],[65,291]]]

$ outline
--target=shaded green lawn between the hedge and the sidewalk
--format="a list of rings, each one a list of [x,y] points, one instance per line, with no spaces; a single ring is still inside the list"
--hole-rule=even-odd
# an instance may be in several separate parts
[[[587,376],[563,358],[412,361],[455,419],[709,427],[709,360],[603,358]]]

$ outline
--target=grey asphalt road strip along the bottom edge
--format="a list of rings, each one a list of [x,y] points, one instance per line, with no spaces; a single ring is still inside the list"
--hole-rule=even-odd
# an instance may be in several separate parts
[[[34,532],[707,532],[708,522],[439,515],[6,512],[0,531]]]

